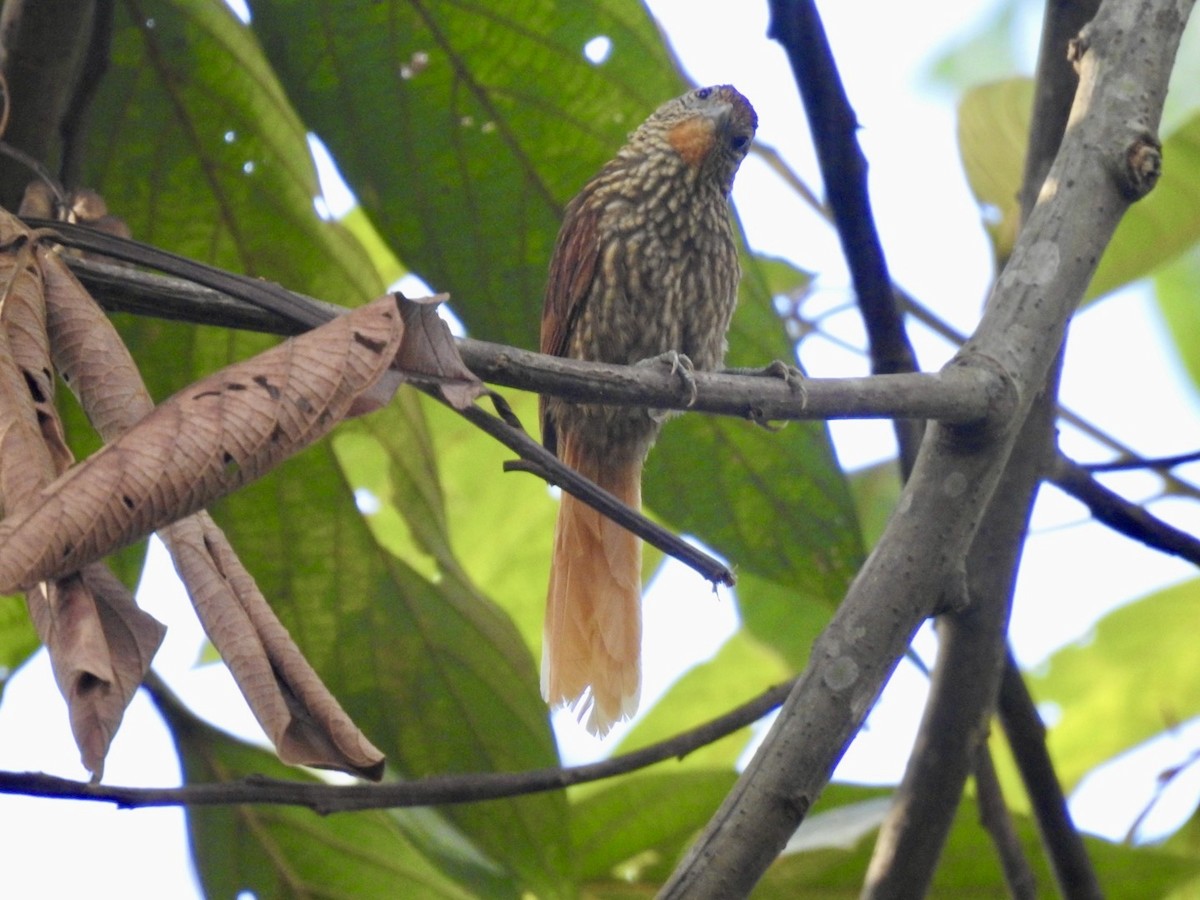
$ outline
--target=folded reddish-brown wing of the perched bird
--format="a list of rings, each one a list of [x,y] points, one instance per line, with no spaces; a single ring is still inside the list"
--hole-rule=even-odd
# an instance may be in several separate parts
[[[600,259],[600,210],[595,203],[589,203],[589,187],[584,187],[566,205],[563,227],[554,241],[554,256],[550,260],[546,299],[541,307],[541,352],[553,356],[568,355],[571,334],[583,312]],[[558,442],[545,397],[538,408],[542,444],[556,452]]]

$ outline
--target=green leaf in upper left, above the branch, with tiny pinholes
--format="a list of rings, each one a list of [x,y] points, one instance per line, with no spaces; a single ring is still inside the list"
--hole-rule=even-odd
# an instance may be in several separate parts
[[[228,6],[116,10],[85,181],[133,235],[335,302],[382,293],[358,238],[317,217],[305,126]]]

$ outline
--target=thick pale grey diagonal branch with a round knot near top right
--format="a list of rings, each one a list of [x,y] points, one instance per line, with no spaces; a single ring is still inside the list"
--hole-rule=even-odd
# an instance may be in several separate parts
[[[1010,414],[984,427],[931,425],[895,514],[738,784],[662,895],[749,893],[828,782],[924,618],[965,590],[964,565],[1067,322],[1128,204],[1128,168],[1162,112],[1187,0],[1110,0],[1081,46],[1080,91],[1044,192],[974,336],[952,366],[1010,379]]]

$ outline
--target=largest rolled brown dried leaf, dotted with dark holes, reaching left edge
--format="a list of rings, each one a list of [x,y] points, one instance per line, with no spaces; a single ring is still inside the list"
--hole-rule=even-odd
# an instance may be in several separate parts
[[[176,394],[0,523],[0,592],[107,556],[323,437],[384,378],[402,332],[380,298]]]

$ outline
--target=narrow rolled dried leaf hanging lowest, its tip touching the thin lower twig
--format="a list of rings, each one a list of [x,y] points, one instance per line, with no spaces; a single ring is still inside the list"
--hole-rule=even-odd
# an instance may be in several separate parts
[[[206,512],[161,532],[196,613],[280,758],[378,781],[384,756],[295,646]]]

